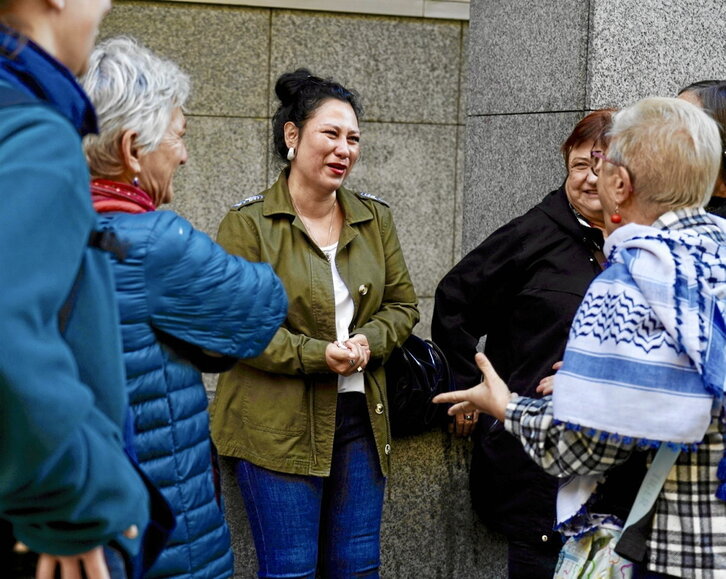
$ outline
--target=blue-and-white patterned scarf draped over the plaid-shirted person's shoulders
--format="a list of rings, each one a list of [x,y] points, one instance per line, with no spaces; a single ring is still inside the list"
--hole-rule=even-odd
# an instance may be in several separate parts
[[[693,450],[726,389],[726,220],[669,212],[618,228],[605,254],[555,377],[555,420]]]

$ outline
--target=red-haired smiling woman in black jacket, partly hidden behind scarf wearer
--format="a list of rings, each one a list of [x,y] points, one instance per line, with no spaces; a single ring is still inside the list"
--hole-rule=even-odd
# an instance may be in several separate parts
[[[480,381],[485,353],[512,391],[537,396],[560,360],[570,323],[601,271],[603,215],[590,151],[601,149],[611,110],[584,117],[562,145],[564,184],[485,239],[436,290],[434,341],[458,388]],[[550,578],[562,546],[555,523],[557,481],[532,462],[502,425],[482,416],[474,429],[470,489],[481,519],[509,541],[509,577]],[[467,435],[476,414],[457,418]]]

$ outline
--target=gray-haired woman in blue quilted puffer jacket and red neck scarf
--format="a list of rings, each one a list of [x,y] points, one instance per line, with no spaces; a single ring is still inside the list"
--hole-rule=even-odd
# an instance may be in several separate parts
[[[114,273],[135,450],[176,515],[146,577],[226,579],[232,554],[200,370],[261,353],[287,298],[269,265],[231,256],[175,213],[156,211],[187,159],[188,77],[116,38],[94,51],[84,87],[101,129],[85,143],[94,206],[125,243]]]

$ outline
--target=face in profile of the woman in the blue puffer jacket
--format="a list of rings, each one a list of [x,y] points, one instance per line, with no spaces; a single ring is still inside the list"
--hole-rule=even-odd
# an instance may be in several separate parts
[[[139,187],[151,196],[157,207],[169,203],[174,197],[174,174],[180,165],[187,162],[185,132],[186,119],[181,108],[177,107],[159,146],[150,153],[139,155]]]

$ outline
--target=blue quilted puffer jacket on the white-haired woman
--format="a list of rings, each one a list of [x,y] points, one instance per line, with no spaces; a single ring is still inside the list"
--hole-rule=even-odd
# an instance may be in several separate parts
[[[285,318],[284,289],[269,265],[227,254],[172,212],[107,213],[101,223],[128,243],[114,274],[136,452],[177,520],[146,577],[227,579],[230,538],[215,498],[201,374],[157,332],[202,356],[256,356]]]

